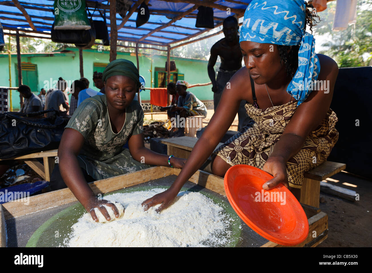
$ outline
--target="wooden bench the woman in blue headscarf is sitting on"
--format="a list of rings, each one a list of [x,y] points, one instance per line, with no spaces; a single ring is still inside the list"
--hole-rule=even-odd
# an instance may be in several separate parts
[[[168,155],[188,158],[197,141],[198,139],[196,137],[184,136],[163,139],[160,142],[167,145]],[[221,144],[222,143],[219,143],[218,146]],[[304,175],[304,181],[302,182],[300,202],[302,204],[319,208],[320,181],[341,172],[341,170],[344,170],[345,168],[346,165],[343,163],[326,161],[306,172]]]

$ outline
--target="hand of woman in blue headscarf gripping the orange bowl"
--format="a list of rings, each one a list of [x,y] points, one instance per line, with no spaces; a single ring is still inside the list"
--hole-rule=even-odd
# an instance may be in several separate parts
[[[270,179],[266,183],[263,184],[263,189],[271,189],[282,183],[284,186],[289,188],[288,183],[288,176],[287,176],[287,168],[285,165],[286,162],[280,157],[269,157],[267,159],[265,165],[263,165],[263,170],[270,175],[274,176],[274,178]]]

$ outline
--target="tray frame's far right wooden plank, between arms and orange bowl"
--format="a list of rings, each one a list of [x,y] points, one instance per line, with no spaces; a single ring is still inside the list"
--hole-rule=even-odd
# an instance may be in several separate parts
[[[174,169],[174,175],[179,175],[180,172],[181,169]],[[189,181],[226,196],[224,179],[217,175],[212,175],[211,173],[198,170],[193,176],[191,176]]]

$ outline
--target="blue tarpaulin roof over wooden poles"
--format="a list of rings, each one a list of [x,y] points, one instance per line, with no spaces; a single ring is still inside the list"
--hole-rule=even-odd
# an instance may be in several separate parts
[[[110,32],[110,14],[109,4],[107,0],[98,0],[101,3],[100,10],[103,12],[106,9],[106,20]],[[151,45],[167,46],[172,43],[180,42],[180,40],[188,40],[190,36],[202,34],[210,29],[197,28],[196,14],[198,10],[187,14],[181,19],[173,22],[170,26],[157,30],[148,35],[154,29],[164,26],[169,23],[175,16],[192,9],[195,4],[200,6],[212,6],[214,11],[215,26],[221,25],[222,21],[230,16],[237,14],[238,17],[243,16],[244,10],[251,0],[150,0],[148,3],[150,10],[150,19],[147,23],[140,27],[136,27],[137,10],[129,17],[125,25],[118,29],[118,40],[138,42]],[[19,3],[25,8],[28,15],[36,27],[36,32],[50,32],[54,21],[53,0],[19,0]],[[90,12],[92,13],[95,6],[95,1],[86,1]],[[136,1],[133,1],[134,6]],[[230,10],[228,9],[230,8]],[[230,11],[230,12],[228,12]],[[96,10],[93,14],[93,20],[103,20],[99,12]],[[116,13],[116,24],[122,23],[123,18]],[[11,0],[0,0],[0,22],[4,29],[30,29],[22,12],[15,6]]]

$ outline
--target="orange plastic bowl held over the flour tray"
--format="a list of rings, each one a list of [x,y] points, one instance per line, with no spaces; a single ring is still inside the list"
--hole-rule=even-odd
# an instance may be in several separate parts
[[[225,192],[241,220],[256,233],[274,243],[295,246],[309,233],[306,214],[282,183],[269,191],[262,188],[272,178],[261,169],[235,165],[226,172]]]

